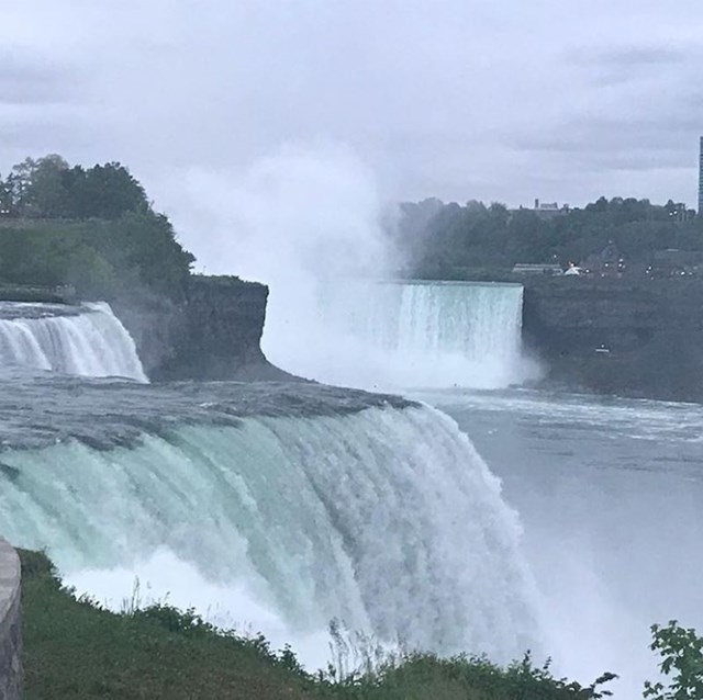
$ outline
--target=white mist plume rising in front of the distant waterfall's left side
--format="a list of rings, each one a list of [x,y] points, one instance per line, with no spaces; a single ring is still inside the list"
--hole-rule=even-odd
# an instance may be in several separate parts
[[[372,172],[338,144],[289,146],[242,171],[192,169],[175,211],[201,271],[269,286],[263,350],[314,379],[339,350],[320,315],[325,290],[393,272],[382,216]]]

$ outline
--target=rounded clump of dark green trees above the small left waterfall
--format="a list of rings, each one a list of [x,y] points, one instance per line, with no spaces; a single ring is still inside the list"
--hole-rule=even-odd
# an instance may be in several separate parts
[[[178,295],[193,256],[116,162],[27,158],[0,179],[0,283],[70,284],[81,296]]]

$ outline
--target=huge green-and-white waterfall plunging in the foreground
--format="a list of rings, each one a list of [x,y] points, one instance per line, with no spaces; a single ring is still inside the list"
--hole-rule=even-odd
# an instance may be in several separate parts
[[[70,583],[118,607],[140,573],[156,598],[220,602],[303,652],[333,618],[496,661],[539,639],[517,518],[434,409],[245,418],[133,448],[70,442],[2,459],[0,532],[46,546]]]

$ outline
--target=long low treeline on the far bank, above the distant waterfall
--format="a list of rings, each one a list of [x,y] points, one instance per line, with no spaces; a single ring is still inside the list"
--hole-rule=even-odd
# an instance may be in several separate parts
[[[510,270],[517,262],[567,267],[614,241],[628,262],[647,263],[655,251],[703,251],[703,222],[672,201],[599,199],[583,208],[509,210],[436,199],[405,203],[395,233],[408,273],[457,276],[461,270]]]

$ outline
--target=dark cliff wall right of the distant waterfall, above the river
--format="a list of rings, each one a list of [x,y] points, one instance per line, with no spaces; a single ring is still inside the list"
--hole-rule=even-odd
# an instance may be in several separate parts
[[[703,282],[524,281],[523,334],[548,385],[703,400]]]

